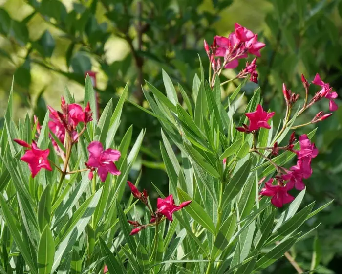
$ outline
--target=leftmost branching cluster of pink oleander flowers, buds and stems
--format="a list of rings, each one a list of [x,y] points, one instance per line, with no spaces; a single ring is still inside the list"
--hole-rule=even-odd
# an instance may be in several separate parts
[[[59,112],[48,106],[50,111],[48,127],[66,148],[66,153],[62,154],[62,150],[59,145],[52,138],[52,136],[49,135],[55,150],[61,155],[64,161],[63,170],[60,169],[56,164],[54,164],[55,167],[63,175],[90,170],[88,175],[90,180],[92,180],[94,176],[93,172],[97,170],[97,174],[102,182],[106,181],[108,173],[120,175],[121,172],[114,163],[120,159],[120,151],[111,148],[105,150],[99,141],[92,141],[88,145],[89,159],[87,162],[85,162],[86,169],[68,171],[68,163],[72,146],[84,133],[87,123],[92,121],[92,112],[90,110],[89,103],[83,109],[79,104],[66,104],[63,97],[61,99],[61,107],[62,112]],[[40,134],[41,126],[37,121],[37,117],[35,117],[35,123],[37,123],[37,132]],[[78,132],[77,126],[80,123],[83,123],[83,128]],[[34,140],[32,141],[31,145],[18,139],[14,139],[14,141],[27,149],[25,154],[21,157],[21,160],[28,163],[28,167],[32,173],[32,178],[34,178],[42,168],[49,171],[52,170],[50,162],[47,159],[50,153],[49,149],[39,149]]]

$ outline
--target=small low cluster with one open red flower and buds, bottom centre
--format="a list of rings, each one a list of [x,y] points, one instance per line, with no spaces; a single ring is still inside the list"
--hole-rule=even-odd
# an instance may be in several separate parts
[[[173,220],[172,214],[182,209],[183,207],[188,206],[192,202],[192,201],[186,201],[186,202],[181,203],[179,206],[176,206],[174,204],[173,196],[171,194],[165,199],[158,198],[157,210],[153,212],[153,210],[151,209],[149,205],[147,191],[144,189],[143,192],[140,192],[133,183],[129,181],[127,181],[127,183],[132,192],[132,195],[136,199],[140,200],[145,206],[147,206],[151,215],[150,224],[142,225],[137,221],[128,221],[128,223],[133,226],[133,229],[130,232],[130,235],[134,235],[147,227],[157,226],[159,223],[163,222],[165,219],[168,219],[169,221],[172,222]]]

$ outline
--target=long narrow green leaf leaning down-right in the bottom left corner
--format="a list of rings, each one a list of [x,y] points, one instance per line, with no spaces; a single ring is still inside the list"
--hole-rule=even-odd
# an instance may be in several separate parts
[[[22,257],[24,258],[25,262],[27,263],[30,271],[33,274],[38,274],[37,266],[32,261],[30,253],[28,251],[28,247],[26,243],[23,242],[21,235],[19,234],[19,229],[17,226],[17,221],[14,219],[10,208],[7,206],[5,199],[3,198],[2,194],[0,194],[0,205],[2,209],[2,217],[5,219],[6,224],[11,231],[11,236],[13,237],[18,250],[21,252]]]

